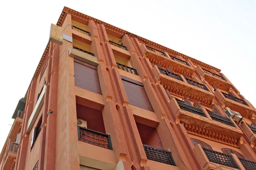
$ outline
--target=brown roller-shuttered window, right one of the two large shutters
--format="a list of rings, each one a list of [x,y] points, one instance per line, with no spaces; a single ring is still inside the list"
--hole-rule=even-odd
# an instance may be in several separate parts
[[[122,79],[125,91],[129,100],[129,104],[143,108],[148,111],[153,111],[151,104],[149,102],[148,96],[142,83],[135,84],[134,80],[128,81],[128,78]]]

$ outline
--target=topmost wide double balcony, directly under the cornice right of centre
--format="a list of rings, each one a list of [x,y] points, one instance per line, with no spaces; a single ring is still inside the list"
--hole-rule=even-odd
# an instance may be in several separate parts
[[[159,51],[147,45],[141,45],[144,52],[144,57],[147,57],[152,65],[160,63],[163,68],[172,67],[177,74],[188,74],[189,76],[195,72],[195,69],[190,67],[189,64],[176,57],[167,57],[166,53]]]

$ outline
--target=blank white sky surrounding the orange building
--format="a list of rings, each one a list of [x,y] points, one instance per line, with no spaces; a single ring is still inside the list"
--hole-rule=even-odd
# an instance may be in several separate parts
[[[57,23],[64,6],[220,68],[256,106],[255,0],[111,2],[1,2],[0,149],[14,121],[12,114],[26,94],[47,45],[50,24]]]

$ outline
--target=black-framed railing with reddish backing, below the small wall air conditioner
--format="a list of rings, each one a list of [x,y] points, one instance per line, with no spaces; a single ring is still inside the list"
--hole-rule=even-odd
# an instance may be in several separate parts
[[[110,135],[80,126],[77,129],[79,141],[112,150]]]

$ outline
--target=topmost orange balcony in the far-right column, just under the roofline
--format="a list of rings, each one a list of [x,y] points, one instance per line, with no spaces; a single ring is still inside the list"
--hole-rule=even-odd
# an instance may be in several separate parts
[[[227,82],[224,79],[224,77],[205,69],[202,69],[202,71],[199,66],[196,68],[196,70],[198,71],[201,77],[204,77],[204,79],[209,83],[209,85],[214,85],[217,88],[220,88],[224,91],[229,91],[231,84]]]

